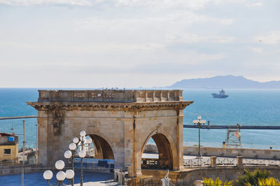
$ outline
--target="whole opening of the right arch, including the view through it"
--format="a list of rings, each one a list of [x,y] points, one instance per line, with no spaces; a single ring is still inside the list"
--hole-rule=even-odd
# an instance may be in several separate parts
[[[148,145],[151,147],[147,148]],[[144,154],[149,151],[148,149],[150,149],[150,153]],[[158,150],[158,155],[156,150]],[[173,169],[172,148],[164,134],[154,134],[149,139],[149,143],[145,145],[142,150],[141,169]]]

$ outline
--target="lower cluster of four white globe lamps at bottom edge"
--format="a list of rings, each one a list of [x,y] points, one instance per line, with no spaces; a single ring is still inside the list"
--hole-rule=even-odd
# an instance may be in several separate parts
[[[75,173],[71,169],[66,170],[66,173],[64,173],[64,171],[62,171],[62,169],[64,169],[64,162],[62,160],[58,160],[57,162],[55,162],[55,168],[58,170],[58,173],[56,176],[57,181],[55,182],[55,185],[58,185],[58,186],[65,185],[63,183],[65,178],[68,179],[68,182],[71,181],[71,183],[73,184],[73,178],[75,176]],[[52,171],[50,171],[50,170],[45,171],[43,173],[43,178],[45,180],[47,180],[48,185],[51,185],[50,179],[52,178]],[[51,186],[55,186],[55,185],[51,185]]]

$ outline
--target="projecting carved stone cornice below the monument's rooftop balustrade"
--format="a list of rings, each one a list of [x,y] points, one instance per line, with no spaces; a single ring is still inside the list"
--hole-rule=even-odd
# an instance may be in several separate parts
[[[144,110],[174,110],[183,109],[193,101],[165,101],[145,103],[113,103],[113,102],[27,102],[36,110],[87,110],[87,111],[125,111],[141,112]]]

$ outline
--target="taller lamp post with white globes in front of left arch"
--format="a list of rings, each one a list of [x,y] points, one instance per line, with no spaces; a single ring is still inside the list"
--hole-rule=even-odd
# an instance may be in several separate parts
[[[78,148],[78,157],[80,157],[80,185],[83,186],[83,158],[86,155],[85,147],[92,143],[92,138],[85,138],[85,131],[80,131],[80,138],[73,138],[73,143],[70,143],[69,149],[64,152],[64,157],[69,160],[74,170],[74,159],[76,155],[76,148]],[[72,183],[73,186],[73,183]]]

